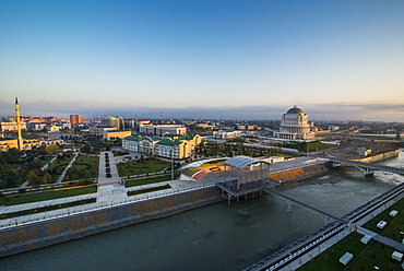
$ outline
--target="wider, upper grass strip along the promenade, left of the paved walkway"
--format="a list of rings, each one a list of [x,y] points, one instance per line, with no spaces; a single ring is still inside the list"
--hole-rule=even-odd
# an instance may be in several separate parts
[[[43,200],[54,200],[79,195],[94,193],[97,191],[97,186],[78,187],[78,188],[60,188],[52,191],[27,192],[20,195],[4,196],[0,199],[0,205],[16,205]]]

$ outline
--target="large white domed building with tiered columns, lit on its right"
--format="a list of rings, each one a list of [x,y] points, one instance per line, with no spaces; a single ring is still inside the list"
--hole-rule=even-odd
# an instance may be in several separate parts
[[[282,116],[281,128],[275,137],[288,140],[314,140],[316,133],[311,128],[309,116],[295,105]]]

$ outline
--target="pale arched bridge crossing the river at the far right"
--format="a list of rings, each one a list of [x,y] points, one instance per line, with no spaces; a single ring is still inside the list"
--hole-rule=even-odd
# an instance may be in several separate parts
[[[356,168],[364,172],[366,176],[372,175],[375,172],[395,173],[401,176],[404,176],[404,168],[402,167],[385,166],[385,165],[379,165],[379,164],[373,164],[373,163],[346,160],[346,158],[341,158],[341,157],[335,157],[335,156],[320,156],[319,155],[317,157],[332,161],[334,166],[338,166],[338,165],[355,166]]]

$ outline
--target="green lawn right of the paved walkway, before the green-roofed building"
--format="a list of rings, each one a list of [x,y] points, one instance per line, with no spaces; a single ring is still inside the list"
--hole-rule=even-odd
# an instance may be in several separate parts
[[[154,158],[145,158],[143,161],[130,161],[126,163],[119,163],[118,172],[119,176],[131,176],[147,173],[158,173],[167,168],[170,165],[169,162]]]

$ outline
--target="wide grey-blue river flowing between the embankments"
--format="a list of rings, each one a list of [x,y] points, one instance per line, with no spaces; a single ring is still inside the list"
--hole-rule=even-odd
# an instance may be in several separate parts
[[[381,162],[404,167],[404,152]],[[283,193],[342,216],[404,181],[404,177],[345,167]],[[311,179],[314,180],[314,179]],[[241,270],[324,226],[324,217],[274,196],[221,202],[175,216],[0,259],[5,270]]]

